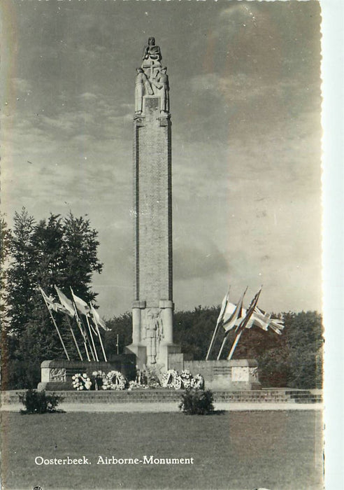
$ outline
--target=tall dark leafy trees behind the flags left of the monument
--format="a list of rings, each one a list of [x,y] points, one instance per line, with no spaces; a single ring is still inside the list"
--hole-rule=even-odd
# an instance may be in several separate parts
[[[9,265],[6,272],[6,369],[3,384],[12,388],[34,387],[39,381],[41,361],[64,357],[64,350],[38,286],[56,295],[56,284],[66,295],[69,287],[83,300],[94,300],[92,274],[101,272],[97,258],[97,232],[88,219],[50,214],[36,223],[26,209],[15,213],[9,237]],[[55,314],[55,320],[71,358],[78,352],[70,333],[69,318]],[[80,332],[74,329],[80,345]]]

